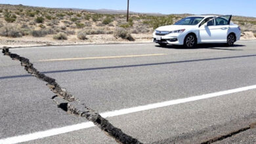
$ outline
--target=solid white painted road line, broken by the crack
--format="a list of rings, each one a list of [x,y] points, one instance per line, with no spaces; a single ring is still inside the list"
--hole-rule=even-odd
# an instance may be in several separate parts
[[[152,103],[149,105],[142,105],[139,107],[131,107],[128,109],[120,109],[120,110],[116,110],[116,111],[110,111],[110,112],[106,112],[106,113],[100,113],[100,115],[104,118],[107,117],[114,117],[114,116],[119,116],[119,115],[125,115],[125,114],[129,114],[129,113],[136,113],[139,111],[146,111],[149,109],[156,109],[156,108],[160,108],[160,107],[167,107],[170,105],[176,105],[176,104],[180,104],[180,103],[187,103],[190,101],[198,101],[200,99],[207,99],[207,98],[213,98],[213,97],[217,97],[217,96],[223,96],[226,94],[233,94],[236,92],[244,92],[246,90],[252,90],[255,89],[256,85],[253,86],[245,86],[242,88],[235,88],[232,90],[224,90],[221,92],[214,92],[211,94],[203,94],[200,96],[192,96],[192,97],[188,97],[188,98],[182,98],[182,99],[175,99],[175,100],[170,100],[170,101],[163,101],[160,103]],[[43,137],[50,137],[53,135],[58,135],[58,134],[64,134],[67,132],[73,132],[75,130],[82,130],[85,128],[91,128],[95,126],[93,124],[93,122],[83,122],[80,124],[74,124],[71,126],[64,126],[61,128],[53,128],[51,130],[45,130],[42,132],[35,132],[32,134],[25,134],[25,135],[18,135],[18,136],[14,136],[14,137],[7,137],[5,139],[0,139],[0,143],[1,144],[9,144],[9,143],[22,143],[25,141],[32,141],[35,139],[41,139]]]

